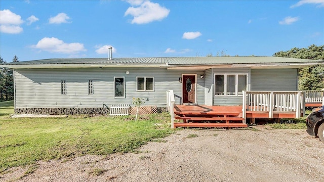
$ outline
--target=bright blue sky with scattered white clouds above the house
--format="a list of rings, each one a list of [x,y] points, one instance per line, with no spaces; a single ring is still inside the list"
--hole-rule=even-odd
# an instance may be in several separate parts
[[[272,56],[324,44],[324,1],[0,1],[0,56]]]

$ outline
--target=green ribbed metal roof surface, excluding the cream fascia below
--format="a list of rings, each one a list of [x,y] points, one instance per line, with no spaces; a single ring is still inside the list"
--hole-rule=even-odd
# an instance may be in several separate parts
[[[324,62],[324,60],[307,60],[281,57],[160,57],[160,58],[58,58],[34,61],[20,61],[6,63],[8,65],[26,64],[159,64],[168,65],[199,65],[199,64],[251,64],[251,63],[305,63],[305,62]]]

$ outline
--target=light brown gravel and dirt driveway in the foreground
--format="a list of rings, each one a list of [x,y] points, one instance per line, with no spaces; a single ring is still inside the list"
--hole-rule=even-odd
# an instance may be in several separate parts
[[[18,181],[324,181],[318,139],[300,129],[255,128],[184,129],[137,154],[39,162]],[[17,179],[25,170],[15,168],[0,180]]]

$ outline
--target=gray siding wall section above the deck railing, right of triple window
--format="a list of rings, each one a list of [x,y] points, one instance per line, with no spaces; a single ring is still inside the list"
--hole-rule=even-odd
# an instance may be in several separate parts
[[[298,89],[298,69],[251,69],[251,90]]]

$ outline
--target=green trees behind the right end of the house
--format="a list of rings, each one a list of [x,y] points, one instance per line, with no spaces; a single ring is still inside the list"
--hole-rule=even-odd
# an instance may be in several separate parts
[[[273,56],[285,58],[300,58],[324,60],[324,45],[310,45],[308,48],[293,48],[289,51],[280,51]],[[324,65],[308,66],[299,69],[299,90],[320,90],[324,88]]]

